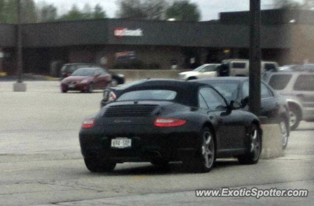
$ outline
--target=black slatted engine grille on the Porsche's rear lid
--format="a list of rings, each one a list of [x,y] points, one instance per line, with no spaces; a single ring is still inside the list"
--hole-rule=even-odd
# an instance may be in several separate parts
[[[105,110],[104,117],[143,117],[150,116],[157,104],[127,104],[109,106]]]

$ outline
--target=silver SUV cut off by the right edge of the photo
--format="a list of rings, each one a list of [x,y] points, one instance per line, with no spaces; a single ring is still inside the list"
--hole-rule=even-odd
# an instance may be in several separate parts
[[[296,129],[301,120],[314,122],[314,73],[278,72],[265,81],[287,99],[291,129]]]

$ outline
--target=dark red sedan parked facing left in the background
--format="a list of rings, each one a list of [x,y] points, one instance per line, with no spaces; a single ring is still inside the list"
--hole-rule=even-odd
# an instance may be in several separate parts
[[[80,68],[61,81],[61,92],[66,93],[69,90],[92,92],[94,89],[105,89],[111,78],[111,75],[100,67]]]

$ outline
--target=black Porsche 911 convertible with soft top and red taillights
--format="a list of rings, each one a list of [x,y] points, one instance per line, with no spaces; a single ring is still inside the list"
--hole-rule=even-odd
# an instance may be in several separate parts
[[[170,161],[209,172],[215,159],[224,157],[254,164],[262,150],[262,129],[254,114],[239,107],[204,83],[147,80],[84,120],[81,153],[91,172],[112,171],[123,162]]]

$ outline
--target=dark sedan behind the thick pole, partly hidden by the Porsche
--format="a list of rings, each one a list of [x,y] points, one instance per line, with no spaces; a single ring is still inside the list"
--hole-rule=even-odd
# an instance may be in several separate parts
[[[213,86],[229,102],[237,101],[242,104],[241,109],[248,111],[249,78],[248,77],[217,77],[198,79]],[[288,103],[282,96],[273,91],[265,82],[261,84],[261,116],[265,118],[264,124],[279,124],[282,133],[282,145],[285,149],[289,137],[289,111]]]

